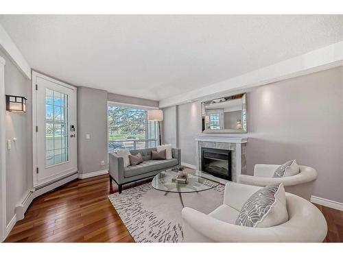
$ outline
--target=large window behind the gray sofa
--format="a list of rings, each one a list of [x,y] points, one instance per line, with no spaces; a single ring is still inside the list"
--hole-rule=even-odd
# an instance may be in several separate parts
[[[108,103],[108,152],[156,147],[157,123],[147,110]]]

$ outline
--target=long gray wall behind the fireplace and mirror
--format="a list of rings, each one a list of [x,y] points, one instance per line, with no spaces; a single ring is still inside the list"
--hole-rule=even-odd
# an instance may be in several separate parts
[[[247,94],[248,134],[209,136],[248,136],[249,175],[255,164],[282,164],[294,158],[314,167],[319,174],[314,195],[343,203],[342,77],[341,66],[255,88]],[[178,106],[177,121],[182,162],[196,164],[200,103]]]

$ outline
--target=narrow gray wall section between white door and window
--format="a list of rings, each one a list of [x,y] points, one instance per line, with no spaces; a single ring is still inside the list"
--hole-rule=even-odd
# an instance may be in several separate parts
[[[86,138],[86,134],[90,138]],[[102,160],[105,165],[102,165]],[[78,87],[78,169],[89,173],[108,169],[107,91]]]

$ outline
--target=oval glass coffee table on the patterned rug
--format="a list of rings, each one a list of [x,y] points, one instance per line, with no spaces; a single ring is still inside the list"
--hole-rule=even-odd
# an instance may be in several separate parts
[[[187,170],[185,173],[187,173],[187,183],[182,184],[172,181],[178,175],[177,170],[167,169],[162,171],[152,180],[152,187],[165,192],[165,195],[178,193],[182,207],[185,207],[182,201],[182,193],[198,193],[215,188],[220,184],[217,178],[204,171]]]

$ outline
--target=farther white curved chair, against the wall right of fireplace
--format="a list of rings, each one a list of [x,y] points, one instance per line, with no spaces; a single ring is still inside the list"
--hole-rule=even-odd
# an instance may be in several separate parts
[[[254,175],[239,175],[238,182],[253,186],[268,186],[281,182],[285,186],[286,192],[309,200],[313,193],[314,182],[318,177],[317,171],[314,168],[299,165],[300,172],[296,175],[272,178],[274,171],[279,166],[274,164],[256,164]]]

